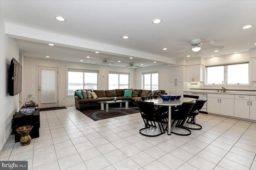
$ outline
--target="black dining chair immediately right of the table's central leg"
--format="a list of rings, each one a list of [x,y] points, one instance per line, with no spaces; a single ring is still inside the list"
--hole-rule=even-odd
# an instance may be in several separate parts
[[[177,107],[177,110],[172,111],[173,122],[172,122],[171,126],[173,126],[174,123],[177,121],[175,127],[182,128],[182,129],[185,129],[186,131],[188,131],[188,133],[186,133],[186,134],[184,134],[184,133],[180,134],[180,133],[176,133],[176,132],[172,131],[173,134],[177,134],[180,136],[188,136],[191,134],[191,130],[189,130],[186,127],[182,127],[182,123],[184,120],[187,119],[188,113],[190,113],[192,111],[195,104],[196,104],[196,101],[184,102],[184,103],[182,103],[182,105]],[[167,127],[166,127],[166,130],[167,130]]]

